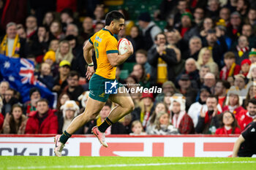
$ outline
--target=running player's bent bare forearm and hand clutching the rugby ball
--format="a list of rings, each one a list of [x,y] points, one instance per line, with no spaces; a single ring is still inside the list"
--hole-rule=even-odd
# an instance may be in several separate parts
[[[129,56],[132,54],[133,54],[133,47],[132,45],[129,45],[127,53],[124,53],[123,55],[118,55],[117,53],[108,54],[108,61],[110,62],[111,66],[118,66],[121,63],[124,63],[124,61],[126,61],[127,58],[129,58]]]

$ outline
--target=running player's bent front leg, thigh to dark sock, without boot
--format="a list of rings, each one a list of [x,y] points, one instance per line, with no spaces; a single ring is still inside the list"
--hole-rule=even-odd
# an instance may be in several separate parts
[[[124,88],[124,87],[120,87],[120,88]],[[131,96],[129,96],[129,93],[127,93],[126,90],[118,89],[118,91],[123,91],[124,93],[117,93],[117,94],[110,95],[109,97],[110,100],[118,104],[118,106],[114,107],[110,111],[105,121],[101,125],[99,125],[98,128],[99,128],[99,131],[101,132],[105,132],[110,125],[112,125],[113,123],[116,123],[118,120],[121,119],[121,117],[124,117],[129,112],[132,112],[132,110],[134,109],[134,104]]]

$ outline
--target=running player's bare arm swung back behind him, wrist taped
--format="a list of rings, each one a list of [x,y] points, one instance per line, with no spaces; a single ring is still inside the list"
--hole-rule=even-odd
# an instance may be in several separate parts
[[[94,63],[92,61],[92,49],[93,45],[91,42],[87,41],[86,45],[83,46],[83,57],[88,64],[87,72],[86,72],[86,79],[90,80],[91,76],[94,74]]]

